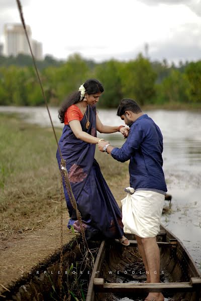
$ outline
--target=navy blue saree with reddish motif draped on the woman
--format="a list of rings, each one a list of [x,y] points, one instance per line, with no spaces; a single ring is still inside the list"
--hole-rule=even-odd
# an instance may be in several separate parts
[[[96,137],[96,108],[95,105],[88,107],[90,126],[86,129],[85,115],[80,124],[83,131]],[[59,146],[66,161],[70,185],[82,217],[85,237],[120,238],[123,235],[122,214],[94,159],[95,145],[77,139],[70,126],[64,125]],[[61,158],[58,149],[56,157],[60,168]],[[73,225],[74,229],[80,232],[76,212],[70,203],[64,181],[63,188],[70,216],[68,228]]]

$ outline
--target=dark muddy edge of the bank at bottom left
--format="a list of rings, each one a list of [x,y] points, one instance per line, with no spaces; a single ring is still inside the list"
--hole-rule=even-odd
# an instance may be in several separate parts
[[[80,243],[80,237],[73,237],[67,244],[63,245],[63,260],[74,261],[80,256],[77,245]],[[1,296],[6,300],[40,300],[48,299],[47,292],[52,290],[52,283],[55,287],[58,286],[58,275],[60,274],[60,250],[57,250],[53,255],[46,257],[43,262],[38,262],[29,271],[22,270],[21,278],[16,282],[11,282],[7,289],[0,290]],[[52,279],[52,283],[50,281]],[[56,278],[55,278],[56,277]]]

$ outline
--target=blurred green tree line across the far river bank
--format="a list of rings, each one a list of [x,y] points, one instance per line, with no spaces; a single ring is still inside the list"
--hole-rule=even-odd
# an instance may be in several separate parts
[[[116,108],[122,98],[140,105],[201,103],[201,61],[169,66],[166,60],[151,62],[142,54],[128,62],[94,63],[74,54],[67,61],[47,56],[37,62],[50,105],[59,105],[87,78],[97,78],[105,92],[99,107]],[[43,105],[41,89],[28,56],[0,57],[0,105]]]

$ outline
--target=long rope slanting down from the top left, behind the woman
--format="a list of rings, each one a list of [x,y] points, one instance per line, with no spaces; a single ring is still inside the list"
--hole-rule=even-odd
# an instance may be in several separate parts
[[[16,0],[16,1],[17,1],[19,14],[20,14],[20,19],[21,19],[21,22],[22,22],[22,25],[23,25],[23,28],[24,28],[24,31],[25,31],[27,41],[28,41],[29,49],[30,49],[31,56],[32,56],[32,59],[33,59],[33,64],[34,64],[34,67],[35,67],[35,70],[36,70],[36,74],[37,74],[38,81],[39,81],[39,84],[40,84],[40,87],[41,87],[43,98],[45,100],[45,105],[46,105],[46,108],[47,108],[47,111],[48,111],[48,115],[49,115],[49,118],[50,118],[52,130],[53,130],[53,133],[54,133],[54,137],[55,137],[57,147],[58,147],[58,150],[59,150],[59,155],[60,155],[60,158],[61,158],[61,163],[60,163],[60,173],[61,173],[61,190],[60,190],[60,201],[61,201],[60,299],[61,299],[62,298],[62,296],[61,296],[62,295],[62,287],[63,287],[62,286],[62,270],[63,270],[63,268],[62,268],[62,263],[63,263],[63,206],[62,206],[62,202],[63,202],[63,199],[64,199],[63,190],[62,190],[62,177],[64,179],[64,183],[65,183],[65,186],[66,186],[66,189],[67,189],[67,193],[68,193],[70,203],[71,203],[73,209],[76,211],[76,216],[77,216],[77,219],[78,219],[79,224],[80,224],[81,237],[82,237],[84,249],[86,249],[86,252],[88,252],[91,255],[91,262],[93,262],[93,255],[92,255],[91,251],[89,250],[87,242],[86,242],[85,233],[84,233],[84,229],[83,229],[83,226],[82,226],[81,214],[80,214],[80,212],[77,208],[77,203],[75,201],[75,198],[74,198],[74,195],[73,195],[73,192],[72,192],[72,188],[71,188],[70,181],[69,181],[69,178],[68,178],[68,172],[67,172],[67,169],[66,169],[66,162],[63,159],[62,154],[61,154],[61,149],[59,147],[56,132],[55,132],[54,125],[53,125],[53,122],[52,122],[52,118],[51,118],[51,115],[50,115],[50,111],[49,111],[49,108],[48,108],[47,98],[45,96],[45,92],[44,92],[43,85],[42,85],[42,82],[41,82],[41,79],[40,79],[38,68],[36,66],[36,61],[35,61],[35,58],[34,58],[34,55],[33,55],[33,52],[32,52],[32,47],[31,47],[31,44],[30,44],[30,41],[29,41],[29,36],[27,34],[25,20],[24,20],[24,17],[23,17],[22,5],[21,5],[20,0]],[[90,261],[90,256],[88,257],[88,260]]]

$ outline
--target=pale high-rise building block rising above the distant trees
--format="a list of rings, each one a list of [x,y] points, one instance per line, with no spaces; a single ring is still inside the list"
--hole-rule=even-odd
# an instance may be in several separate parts
[[[5,34],[5,55],[17,56],[18,54],[31,55],[27,37],[22,24],[6,24],[4,27]],[[33,54],[37,60],[42,60],[42,44],[32,40],[32,32],[27,25],[27,34],[33,47]]]

